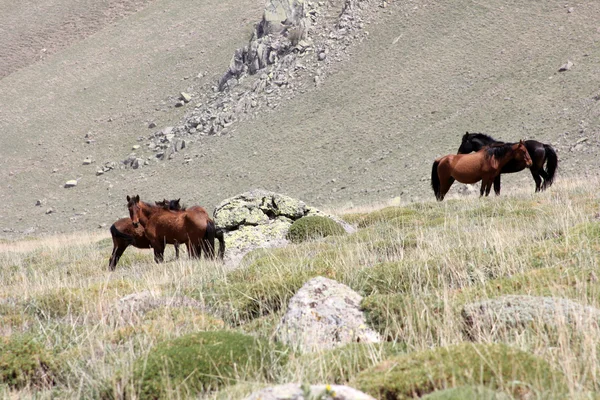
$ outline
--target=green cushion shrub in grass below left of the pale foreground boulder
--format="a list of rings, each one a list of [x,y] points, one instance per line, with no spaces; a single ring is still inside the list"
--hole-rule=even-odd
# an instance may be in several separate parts
[[[139,398],[193,397],[242,379],[271,374],[284,348],[237,332],[198,332],[156,345],[134,366]]]

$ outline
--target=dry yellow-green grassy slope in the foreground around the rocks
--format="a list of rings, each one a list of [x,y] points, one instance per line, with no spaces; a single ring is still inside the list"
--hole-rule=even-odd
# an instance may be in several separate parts
[[[531,294],[600,307],[598,182],[528,192],[342,213],[359,227],[356,233],[251,253],[233,271],[185,255],[175,261],[171,248],[163,265],[154,264],[149,251],[128,249],[109,273],[112,244],[103,235],[2,242],[0,347],[10,351],[0,352],[0,365],[26,373],[0,372],[0,393],[120,398],[163,387],[167,398],[188,398],[210,387],[216,391],[202,396],[241,398],[273,383],[350,382],[377,396],[389,384],[378,368],[399,363],[404,375],[393,384],[408,386],[392,388],[398,398],[460,385],[515,398],[593,398],[600,393],[600,335],[593,329],[557,321],[554,330],[532,326],[476,347],[464,344],[460,311],[471,301]],[[389,343],[309,356],[265,344],[289,298],[317,275],[364,296],[369,325]],[[144,291],[151,301],[117,309],[120,298]],[[160,354],[188,357],[197,340],[222,343],[237,337],[233,333],[256,340],[250,347],[258,353],[248,363],[237,361],[234,370],[219,367],[215,355],[206,368],[217,372],[192,378],[210,378],[207,386],[173,375],[166,386],[153,386],[149,376],[162,376],[160,370],[142,372],[164,360]],[[17,357],[6,356],[11,352]],[[425,360],[440,366],[439,379],[427,378],[433,370]],[[483,363],[481,375],[465,376],[460,363]]]

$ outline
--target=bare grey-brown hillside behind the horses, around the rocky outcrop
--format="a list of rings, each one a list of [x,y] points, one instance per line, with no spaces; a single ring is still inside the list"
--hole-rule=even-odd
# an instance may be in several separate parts
[[[0,229],[95,229],[136,193],[211,210],[253,187],[318,206],[431,197],[433,159],[456,152],[467,130],[552,143],[559,179],[598,173],[600,4],[461,0],[372,4],[368,40],[319,87],[203,138],[186,149],[193,163],[95,176],[150,121],[178,123],[173,96],[216,81],[262,5],[156,0],[0,80]],[[573,67],[558,72],[567,60]],[[95,163],[82,166],[88,156]],[[69,179],[77,187],[63,188]],[[534,187],[527,172],[503,182],[503,192]]]

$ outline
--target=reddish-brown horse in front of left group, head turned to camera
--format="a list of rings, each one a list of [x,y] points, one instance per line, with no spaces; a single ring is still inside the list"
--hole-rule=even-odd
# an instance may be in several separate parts
[[[166,244],[185,243],[192,258],[200,258],[202,250],[206,258],[215,258],[215,238],[219,240],[219,258],[225,253],[223,232],[203,207],[193,206],[186,210],[166,210],[161,206],[140,201],[140,196],[127,196],[127,208],[133,226],[143,226],[154,260],[164,260]]]

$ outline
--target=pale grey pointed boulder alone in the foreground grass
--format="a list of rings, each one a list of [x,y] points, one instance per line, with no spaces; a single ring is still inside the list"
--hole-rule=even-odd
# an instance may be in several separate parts
[[[378,343],[360,311],[362,297],[348,286],[321,276],[306,282],[290,299],[276,338],[300,351],[332,349],[348,343]]]

